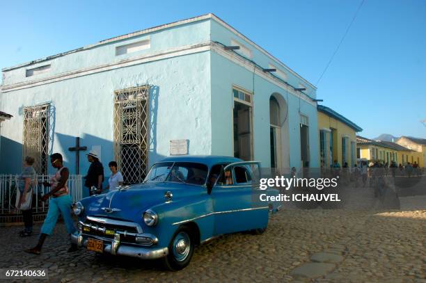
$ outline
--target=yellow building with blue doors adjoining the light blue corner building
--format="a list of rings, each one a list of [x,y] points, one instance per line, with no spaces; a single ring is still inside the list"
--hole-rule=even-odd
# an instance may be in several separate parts
[[[318,105],[319,163],[329,168],[336,160],[349,167],[356,163],[356,132],[362,131],[354,122],[331,108]]]

